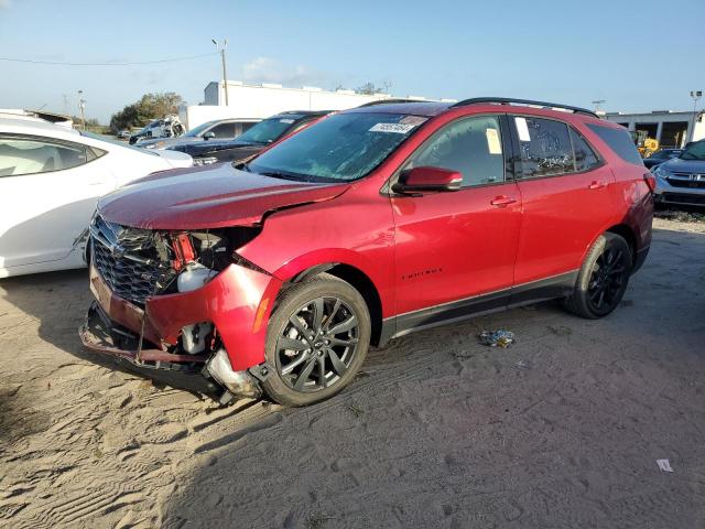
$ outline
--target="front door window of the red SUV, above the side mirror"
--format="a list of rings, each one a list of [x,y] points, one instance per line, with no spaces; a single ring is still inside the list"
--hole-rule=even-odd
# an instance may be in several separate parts
[[[501,140],[497,117],[459,119],[421,145],[404,170],[433,166],[458,171],[463,187],[503,182]]]

